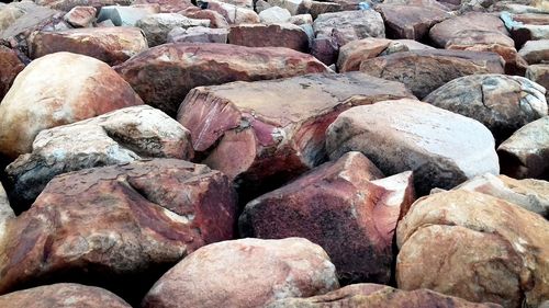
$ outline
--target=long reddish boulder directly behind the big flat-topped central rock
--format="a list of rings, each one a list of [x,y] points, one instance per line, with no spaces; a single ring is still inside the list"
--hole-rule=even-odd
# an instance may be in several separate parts
[[[227,44],[165,44],[116,66],[142,99],[169,115],[199,85],[324,72],[314,57],[287,48]]]

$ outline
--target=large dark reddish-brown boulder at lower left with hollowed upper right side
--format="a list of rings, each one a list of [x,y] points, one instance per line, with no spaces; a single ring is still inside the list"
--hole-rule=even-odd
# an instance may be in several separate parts
[[[232,239],[235,215],[229,181],[205,166],[156,159],[66,173],[9,223],[0,293],[72,281],[138,300],[166,267]]]

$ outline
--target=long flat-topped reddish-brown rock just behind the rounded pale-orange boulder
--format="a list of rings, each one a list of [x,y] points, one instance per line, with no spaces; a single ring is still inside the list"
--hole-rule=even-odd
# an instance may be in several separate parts
[[[90,56],[114,66],[148,48],[138,27],[89,27],[56,32],[37,32],[30,37],[30,56],[69,52]]]

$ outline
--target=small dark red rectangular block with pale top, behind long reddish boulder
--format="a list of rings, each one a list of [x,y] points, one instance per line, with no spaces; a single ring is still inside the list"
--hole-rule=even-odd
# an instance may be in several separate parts
[[[231,27],[228,43],[248,47],[285,47],[309,52],[309,36],[294,24],[240,24]]]

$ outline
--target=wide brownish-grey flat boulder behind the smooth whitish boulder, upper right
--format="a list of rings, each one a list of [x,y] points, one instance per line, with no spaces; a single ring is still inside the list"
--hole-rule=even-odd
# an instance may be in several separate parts
[[[494,53],[412,50],[362,61],[360,71],[400,81],[419,99],[456,78],[475,73],[503,73],[503,60]]]

